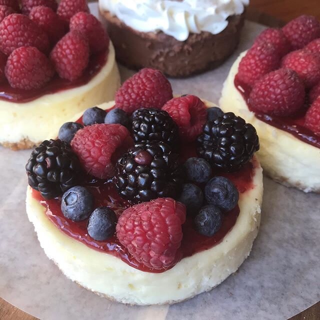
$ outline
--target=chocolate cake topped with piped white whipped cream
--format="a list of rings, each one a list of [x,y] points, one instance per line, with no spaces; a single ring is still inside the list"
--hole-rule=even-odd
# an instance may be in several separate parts
[[[248,0],[99,0],[116,58],[185,77],[220,65],[236,48]]]

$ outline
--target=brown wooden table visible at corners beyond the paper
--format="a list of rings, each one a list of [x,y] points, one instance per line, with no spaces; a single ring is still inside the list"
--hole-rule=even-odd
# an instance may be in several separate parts
[[[300,14],[312,14],[320,20],[320,0],[250,0],[247,18],[270,26],[281,26],[283,21]],[[289,320],[319,320],[320,301]],[[36,320],[0,298],[0,320]],[[45,320],[45,319],[43,319]]]

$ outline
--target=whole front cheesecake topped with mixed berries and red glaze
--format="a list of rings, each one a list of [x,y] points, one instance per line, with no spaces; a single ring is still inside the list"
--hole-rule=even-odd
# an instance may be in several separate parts
[[[70,120],[26,164],[28,218],[68,278],[146,305],[188,299],[237,270],[263,192],[251,124],[173,97],[154,69]]]

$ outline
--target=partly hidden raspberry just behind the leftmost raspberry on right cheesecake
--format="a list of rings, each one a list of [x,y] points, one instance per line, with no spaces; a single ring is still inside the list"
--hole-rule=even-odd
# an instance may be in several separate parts
[[[276,48],[280,56],[283,56],[290,51],[290,43],[281,29],[265,29],[257,36],[253,45],[259,45],[262,42],[271,43]]]

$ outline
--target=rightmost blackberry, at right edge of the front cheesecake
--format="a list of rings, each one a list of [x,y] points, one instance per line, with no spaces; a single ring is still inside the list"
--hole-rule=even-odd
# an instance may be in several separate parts
[[[232,112],[207,121],[197,138],[197,153],[213,168],[234,171],[259,149],[255,128]]]

